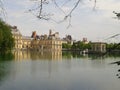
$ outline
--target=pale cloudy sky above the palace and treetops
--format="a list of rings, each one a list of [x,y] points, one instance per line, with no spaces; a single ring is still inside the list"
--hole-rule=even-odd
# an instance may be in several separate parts
[[[65,1],[67,0],[59,2],[57,0],[57,3],[62,5]],[[69,2],[61,8],[67,14],[74,4],[75,2]],[[32,31],[36,31],[38,35],[48,34],[52,29],[53,32],[59,32],[61,38],[69,34],[75,40],[86,37],[88,41],[103,41],[120,33],[120,20],[116,19],[113,13],[113,11],[120,12],[120,0],[97,0],[95,9],[93,9],[94,0],[83,0],[72,13],[72,26],[69,28],[67,28],[68,20],[56,23],[63,20],[65,15],[52,2],[45,6],[45,12],[53,15],[49,21],[40,20],[35,17],[35,13],[28,12],[35,7],[35,3],[31,0],[3,0],[3,5],[6,22],[17,26],[25,36],[31,36]]]

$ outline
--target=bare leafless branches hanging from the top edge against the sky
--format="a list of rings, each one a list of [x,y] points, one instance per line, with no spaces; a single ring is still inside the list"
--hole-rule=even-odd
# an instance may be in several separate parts
[[[46,8],[45,5],[46,4],[48,5],[49,1],[53,2],[53,4],[64,14],[63,20],[61,20],[57,23],[61,23],[61,22],[64,22],[65,20],[68,20],[67,28],[69,28],[71,26],[72,13],[73,13],[73,11],[75,11],[75,9],[78,7],[79,3],[82,0],[66,0],[66,1],[64,1],[64,3],[62,5],[60,5],[60,3],[59,3],[60,1],[56,1],[56,0],[30,0],[30,1],[37,2],[38,5],[36,6],[36,8],[29,9],[29,12],[33,13],[39,19],[55,21],[54,19],[51,18],[51,16],[53,16],[53,14],[48,13],[48,11],[47,11],[47,13],[45,13],[45,10],[44,10],[44,8]],[[62,7],[66,6],[67,4],[69,5],[70,2],[75,2],[75,4],[72,6],[72,9],[67,13],[62,9]],[[97,2],[97,0],[94,0],[93,9],[96,8],[96,2]],[[35,12],[37,12],[37,13],[35,14]]]

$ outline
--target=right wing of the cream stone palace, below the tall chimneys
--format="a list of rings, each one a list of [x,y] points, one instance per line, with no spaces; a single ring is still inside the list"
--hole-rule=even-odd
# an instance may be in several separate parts
[[[62,51],[62,41],[59,38],[59,33],[52,34],[49,31],[49,35],[41,35],[39,39],[33,39],[31,41],[31,47],[40,51]]]

